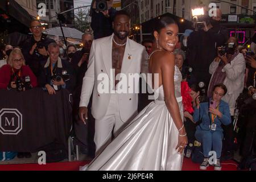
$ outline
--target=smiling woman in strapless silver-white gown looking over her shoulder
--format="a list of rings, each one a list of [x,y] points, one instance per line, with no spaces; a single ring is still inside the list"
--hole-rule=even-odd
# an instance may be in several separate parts
[[[183,150],[187,144],[180,92],[182,80],[172,51],[178,42],[179,28],[168,16],[158,19],[154,36],[157,49],[150,55],[149,71],[158,74],[155,85],[158,98],[84,167],[105,171],[160,171],[182,168]],[[154,76],[152,78],[154,82]]]

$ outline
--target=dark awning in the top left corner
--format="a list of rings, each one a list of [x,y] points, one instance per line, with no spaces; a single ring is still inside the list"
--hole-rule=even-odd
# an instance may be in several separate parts
[[[30,14],[14,0],[1,0],[0,10],[11,16],[26,27],[30,27],[32,20]]]

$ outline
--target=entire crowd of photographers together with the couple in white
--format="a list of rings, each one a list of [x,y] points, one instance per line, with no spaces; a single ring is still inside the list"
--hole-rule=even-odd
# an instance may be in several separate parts
[[[113,11],[101,14],[92,10],[93,16],[105,16],[106,21],[111,18],[113,30],[107,27],[94,38],[85,32],[80,50],[69,44],[63,52],[63,45],[42,33],[40,21],[32,20],[31,38],[20,47],[6,45],[2,50],[5,59],[0,60],[0,88],[24,91],[40,87],[51,95],[69,90],[74,126],[80,132],[77,136],[88,134],[86,123],[95,119],[97,158],[87,169],[180,170],[183,151],[191,158],[195,142],[200,142],[204,155],[200,169],[207,169],[209,152],[216,151],[214,169],[220,171],[221,160],[232,158],[236,148],[236,101],[241,94],[247,98],[256,94],[256,35],[250,50],[239,46],[237,38],[229,38],[228,30],[220,25],[222,13],[218,9],[217,16],[203,28],[186,30],[180,38],[174,20],[163,16],[152,38],[140,45],[128,38],[129,14],[121,10],[112,15]],[[92,26],[97,28],[98,23]],[[110,68],[115,69],[114,77],[119,73],[159,74],[159,85],[153,85],[159,98],[152,102],[144,94],[99,93],[97,75],[111,77]],[[28,86],[26,78],[30,78]],[[24,85],[21,88],[19,81]],[[114,82],[115,89],[118,84]],[[138,101],[148,105],[138,106]],[[241,143],[245,143],[242,156],[246,159],[250,155],[247,140],[255,137],[255,112],[244,119]],[[77,125],[82,122],[85,125]],[[116,139],[110,143],[112,131]],[[79,140],[88,154],[88,138]],[[29,158],[28,152],[20,152],[18,157]]]

